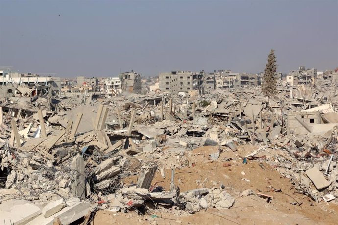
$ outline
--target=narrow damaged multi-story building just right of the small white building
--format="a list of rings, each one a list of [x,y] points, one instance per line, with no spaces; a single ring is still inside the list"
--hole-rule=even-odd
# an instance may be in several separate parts
[[[141,94],[142,90],[142,74],[131,72],[125,72],[121,74],[121,89],[123,92]]]

